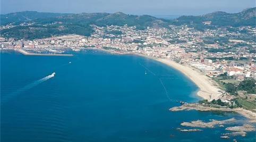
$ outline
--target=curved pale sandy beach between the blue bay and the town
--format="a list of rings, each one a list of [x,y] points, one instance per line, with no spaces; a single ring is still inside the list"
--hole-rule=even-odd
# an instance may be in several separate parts
[[[185,74],[189,79],[191,79],[197,86],[199,87],[198,96],[202,97],[203,99],[213,100],[218,99],[221,92],[220,89],[217,88],[215,83],[208,78],[206,75],[200,73],[192,69],[191,67],[187,67],[185,65],[176,63],[169,59],[156,59],[159,62],[165,63],[170,67],[173,67],[183,74]]]

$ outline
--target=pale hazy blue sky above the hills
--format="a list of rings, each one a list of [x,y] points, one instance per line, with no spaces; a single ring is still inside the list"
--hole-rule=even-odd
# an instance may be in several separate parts
[[[124,12],[135,15],[202,15],[237,13],[255,7],[255,0],[0,0],[1,14],[38,11],[55,13]]]

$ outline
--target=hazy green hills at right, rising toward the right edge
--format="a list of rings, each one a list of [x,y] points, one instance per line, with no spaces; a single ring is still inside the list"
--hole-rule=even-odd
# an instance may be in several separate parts
[[[203,25],[211,22],[215,26],[255,26],[256,7],[248,8],[240,13],[214,12],[202,16],[181,16],[173,24]]]

